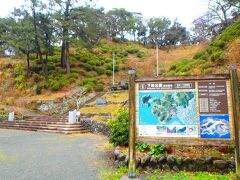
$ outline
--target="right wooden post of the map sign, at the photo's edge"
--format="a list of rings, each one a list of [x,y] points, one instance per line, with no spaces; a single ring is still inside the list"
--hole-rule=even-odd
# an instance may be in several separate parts
[[[232,102],[233,102],[233,119],[234,119],[234,133],[235,133],[235,163],[236,173],[240,177],[240,152],[239,152],[239,92],[238,92],[238,75],[237,67],[229,67],[231,76]]]

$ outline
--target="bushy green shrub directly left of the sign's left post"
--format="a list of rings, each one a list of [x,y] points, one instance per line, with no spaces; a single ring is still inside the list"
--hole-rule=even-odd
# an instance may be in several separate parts
[[[109,142],[115,146],[128,145],[129,112],[128,108],[122,107],[118,110],[115,119],[108,124],[110,128]]]

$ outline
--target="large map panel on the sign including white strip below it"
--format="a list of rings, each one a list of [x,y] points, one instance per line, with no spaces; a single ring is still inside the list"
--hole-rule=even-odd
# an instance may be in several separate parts
[[[198,135],[196,94],[189,92],[140,92],[140,135]]]

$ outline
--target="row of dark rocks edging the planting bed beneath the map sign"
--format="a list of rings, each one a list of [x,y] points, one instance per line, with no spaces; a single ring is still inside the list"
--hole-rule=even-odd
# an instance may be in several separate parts
[[[122,153],[118,147],[114,150],[114,166],[120,167],[127,165],[128,156]],[[208,171],[208,172],[221,172],[228,173],[230,171],[235,171],[235,161],[216,159],[214,157],[199,157],[199,158],[189,158],[189,157],[176,157],[173,155],[153,157],[151,155],[145,155],[143,157],[137,158],[137,168],[139,170],[153,170],[153,169],[163,169],[165,171]]]

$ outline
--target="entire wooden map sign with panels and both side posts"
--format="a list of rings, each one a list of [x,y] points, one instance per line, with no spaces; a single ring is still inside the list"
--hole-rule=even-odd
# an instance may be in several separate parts
[[[129,177],[135,177],[135,141],[232,145],[240,176],[239,96],[230,74],[135,78],[129,73]]]

